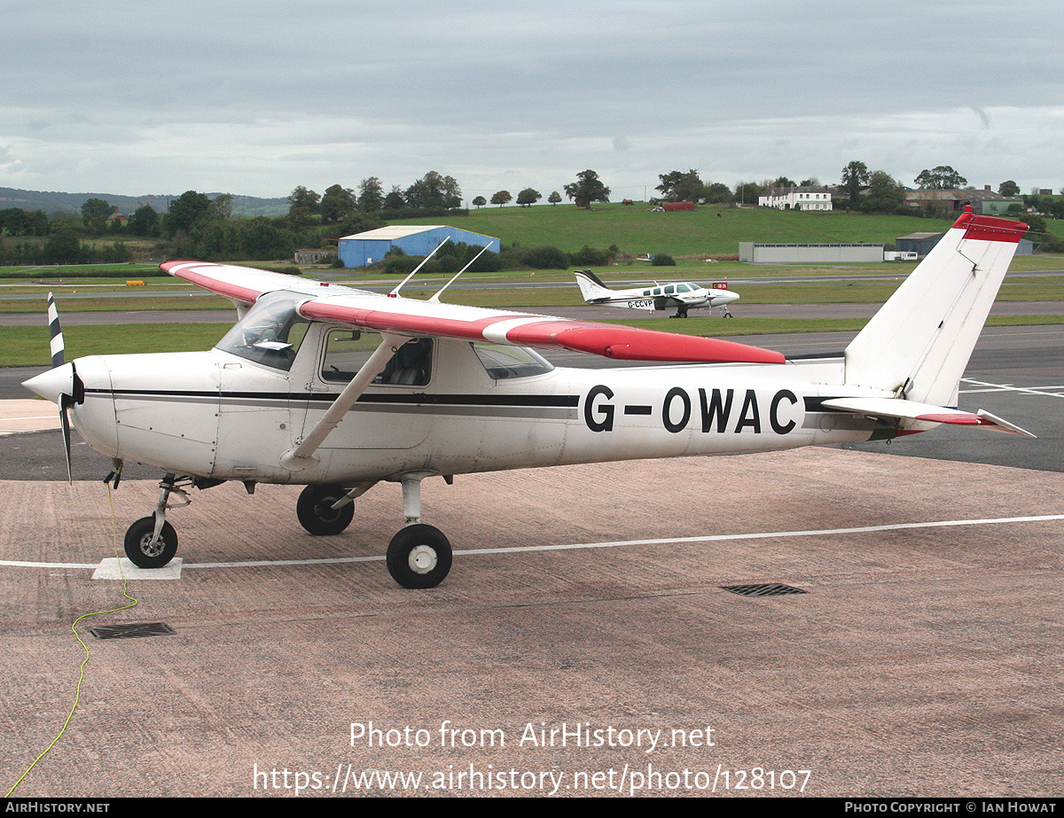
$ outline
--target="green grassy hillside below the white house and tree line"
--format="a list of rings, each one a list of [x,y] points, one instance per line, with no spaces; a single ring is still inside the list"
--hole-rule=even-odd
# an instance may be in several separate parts
[[[408,224],[451,224],[498,236],[503,247],[552,245],[575,252],[584,245],[616,245],[634,254],[735,255],[739,241],[893,245],[910,233],[945,231],[953,219],[879,216],[844,211],[802,213],[705,205],[693,212],[650,213],[645,203],[605,204],[585,211],[573,204],[484,207],[468,216],[403,220]]]

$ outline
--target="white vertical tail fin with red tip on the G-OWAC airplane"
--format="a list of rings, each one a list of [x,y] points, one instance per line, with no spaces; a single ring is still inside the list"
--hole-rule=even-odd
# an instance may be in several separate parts
[[[952,404],[1026,232],[967,208],[846,348],[846,383]]]

